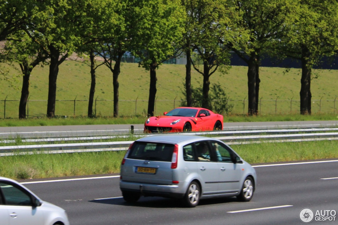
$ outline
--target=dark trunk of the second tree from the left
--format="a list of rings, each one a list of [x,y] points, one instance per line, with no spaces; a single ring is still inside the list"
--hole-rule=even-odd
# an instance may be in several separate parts
[[[50,65],[49,65],[49,80],[48,80],[48,103],[47,117],[55,116],[55,100],[56,100],[56,79],[59,72],[59,56],[60,52],[54,46],[49,46],[50,50]]]

